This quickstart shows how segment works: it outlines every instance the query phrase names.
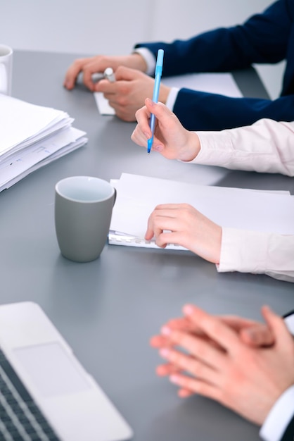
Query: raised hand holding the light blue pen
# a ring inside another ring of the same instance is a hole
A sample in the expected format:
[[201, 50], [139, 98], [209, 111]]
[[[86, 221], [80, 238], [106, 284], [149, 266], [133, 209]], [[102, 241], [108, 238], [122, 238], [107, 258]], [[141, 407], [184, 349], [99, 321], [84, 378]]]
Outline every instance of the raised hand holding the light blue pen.
[[198, 135], [186, 130], [177, 116], [162, 102], [155, 104], [151, 99], [145, 100], [145, 106], [136, 112], [138, 125], [132, 133], [132, 140], [142, 147], [147, 147], [147, 140], [152, 135], [149, 120], [153, 113], [156, 120], [152, 149], [159, 151], [167, 159], [192, 161], [200, 151]]

